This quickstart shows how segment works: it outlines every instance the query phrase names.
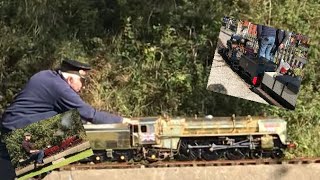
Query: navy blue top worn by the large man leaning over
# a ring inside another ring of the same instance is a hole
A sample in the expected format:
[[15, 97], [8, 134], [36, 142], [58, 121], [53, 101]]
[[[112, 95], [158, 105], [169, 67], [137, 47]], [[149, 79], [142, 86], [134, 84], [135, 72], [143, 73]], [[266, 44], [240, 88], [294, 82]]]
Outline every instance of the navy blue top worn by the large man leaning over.
[[94, 124], [122, 122], [122, 117], [99, 112], [85, 103], [57, 71], [44, 70], [30, 78], [6, 109], [2, 125], [10, 130], [23, 128], [71, 109], [77, 109], [81, 118]]

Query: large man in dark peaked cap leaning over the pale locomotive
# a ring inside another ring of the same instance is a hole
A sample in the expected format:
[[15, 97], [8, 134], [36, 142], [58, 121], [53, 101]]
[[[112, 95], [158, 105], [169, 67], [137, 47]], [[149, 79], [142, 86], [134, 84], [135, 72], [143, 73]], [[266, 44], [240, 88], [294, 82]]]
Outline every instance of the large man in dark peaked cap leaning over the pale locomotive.
[[[71, 109], [77, 109], [82, 119], [93, 124], [130, 123], [130, 119], [97, 111], [81, 99], [78, 93], [90, 69], [88, 64], [67, 59], [57, 70], [43, 70], [34, 74], [3, 113], [1, 134]], [[0, 175], [13, 172], [8, 157], [5, 144], [0, 142]]]

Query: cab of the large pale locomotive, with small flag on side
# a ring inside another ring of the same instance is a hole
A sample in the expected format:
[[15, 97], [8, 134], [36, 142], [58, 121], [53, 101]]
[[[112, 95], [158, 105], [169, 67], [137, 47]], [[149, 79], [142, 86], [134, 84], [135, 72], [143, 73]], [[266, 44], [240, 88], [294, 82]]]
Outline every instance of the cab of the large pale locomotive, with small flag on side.
[[157, 118], [133, 120], [130, 125], [132, 146], [153, 145], [156, 143], [155, 123]]

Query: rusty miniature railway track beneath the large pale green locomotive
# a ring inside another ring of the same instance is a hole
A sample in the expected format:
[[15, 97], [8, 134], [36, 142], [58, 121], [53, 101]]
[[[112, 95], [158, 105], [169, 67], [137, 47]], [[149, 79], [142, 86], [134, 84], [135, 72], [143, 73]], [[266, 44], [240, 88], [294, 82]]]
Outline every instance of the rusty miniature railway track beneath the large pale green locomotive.
[[87, 170], [87, 169], [137, 169], [137, 168], [164, 168], [164, 167], [205, 167], [205, 166], [239, 166], [239, 165], [276, 165], [276, 164], [313, 164], [320, 163], [320, 158], [297, 158], [292, 160], [249, 159], [249, 160], [216, 160], [216, 161], [167, 161], [150, 164], [129, 163], [98, 163], [98, 164], [71, 164], [61, 167], [60, 171]]

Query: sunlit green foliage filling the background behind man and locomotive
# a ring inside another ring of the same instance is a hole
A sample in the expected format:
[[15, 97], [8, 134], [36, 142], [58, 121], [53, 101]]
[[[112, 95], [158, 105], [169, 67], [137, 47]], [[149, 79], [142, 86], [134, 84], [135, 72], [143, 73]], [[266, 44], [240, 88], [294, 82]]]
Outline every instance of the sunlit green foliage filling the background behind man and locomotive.
[[[125, 116], [268, 112], [288, 120], [290, 137], [301, 142], [309, 136], [302, 129], [316, 132], [320, 119], [319, 9], [298, 0], [0, 1], [0, 109], [32, 74], [71, 57], [94, 66], [82, 96], [97, 109]], [[295, 111], [206, 90], [224, 15], [310, 36]], [[320, 155], [307, 143], [308, 155]]]

